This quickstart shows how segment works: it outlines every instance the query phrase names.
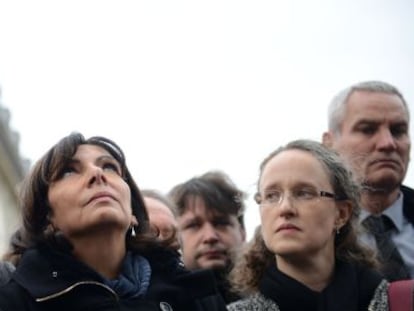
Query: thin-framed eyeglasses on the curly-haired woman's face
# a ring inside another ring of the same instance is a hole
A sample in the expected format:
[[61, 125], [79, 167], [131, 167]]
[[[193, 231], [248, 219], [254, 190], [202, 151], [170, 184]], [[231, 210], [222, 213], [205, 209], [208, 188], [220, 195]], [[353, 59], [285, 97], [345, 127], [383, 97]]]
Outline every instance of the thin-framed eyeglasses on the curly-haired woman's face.
[[[287, 197], [285, 192], [280, 190], [268, 190], [263, 193], [256, 193], [254, 199], [257, 204], [261, 206], [279, 206], [282, 204], [283, 199]], [[345, 200], [344, 197], [339, 197], [334, 193], [328, 191], [317, 191], [315, 189], [298, 189], [290, 192], [289, 198], [293, 204], [301, 205], [306, 202], [316, 200], [318, 198], [325, 197], [331, 198], [335, 201]]]

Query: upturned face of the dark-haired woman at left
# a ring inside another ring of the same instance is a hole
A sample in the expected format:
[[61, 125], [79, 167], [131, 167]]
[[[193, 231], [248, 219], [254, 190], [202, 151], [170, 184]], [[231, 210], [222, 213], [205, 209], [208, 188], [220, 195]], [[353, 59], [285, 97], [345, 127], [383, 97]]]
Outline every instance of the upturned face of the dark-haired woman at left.
[[125, 233], [136, 222], [121, 167], [99, 146], [77, 148], [68, 166], [50, 185], [48, 199], [51, 223], [72, 241], [100, 231]]

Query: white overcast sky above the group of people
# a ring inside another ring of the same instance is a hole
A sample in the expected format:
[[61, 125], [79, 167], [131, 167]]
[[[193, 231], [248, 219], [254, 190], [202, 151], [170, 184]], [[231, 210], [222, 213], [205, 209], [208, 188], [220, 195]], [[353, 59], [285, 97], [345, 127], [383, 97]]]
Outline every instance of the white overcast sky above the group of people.
[[0, 0], [0, 44], [24, 157], [80, 131], [119, 143], [141, 188], [223, 170], [249, 235], [260, 162], [320, 140], [336, 92], [379, 79], [414, 106], [412, 0]]

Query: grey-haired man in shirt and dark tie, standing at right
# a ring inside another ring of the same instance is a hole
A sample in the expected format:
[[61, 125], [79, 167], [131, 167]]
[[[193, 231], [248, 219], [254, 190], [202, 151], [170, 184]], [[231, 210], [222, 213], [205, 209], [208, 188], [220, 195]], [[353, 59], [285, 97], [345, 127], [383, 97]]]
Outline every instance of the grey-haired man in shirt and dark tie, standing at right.
[[323, 143], [353, 167], [363, 186], [361, 239], [378, 249], [390, 281], [414, 277], [414, 190], [402, 185], [410, 155], [409, 110], [386, 82], [352, 85], [332, 100]]

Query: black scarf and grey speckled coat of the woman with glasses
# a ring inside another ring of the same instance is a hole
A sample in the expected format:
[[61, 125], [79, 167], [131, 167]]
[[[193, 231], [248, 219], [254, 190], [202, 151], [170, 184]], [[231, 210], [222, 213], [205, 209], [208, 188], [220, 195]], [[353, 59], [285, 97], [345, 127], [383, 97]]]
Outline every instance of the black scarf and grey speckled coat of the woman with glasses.
[[348, 263], [337, 263], [335, 276], [316, 292], [269, 267], [259, 281], [259, 292], [230, 304], [230, 311], [361, 311], [388, 310], [388, 283], [376, 272]]

